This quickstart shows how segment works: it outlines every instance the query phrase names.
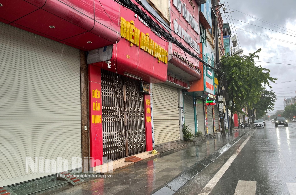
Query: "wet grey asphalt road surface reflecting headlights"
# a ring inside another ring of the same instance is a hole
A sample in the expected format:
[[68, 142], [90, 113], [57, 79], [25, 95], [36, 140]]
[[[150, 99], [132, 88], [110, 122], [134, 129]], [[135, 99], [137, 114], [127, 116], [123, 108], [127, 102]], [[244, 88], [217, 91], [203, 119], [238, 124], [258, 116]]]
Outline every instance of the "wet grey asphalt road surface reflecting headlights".
[[[199, 194], [242, 141], [219, 157], [220, 160], [206, 167], [176, 194]], [[256, 181], [258, 195], [290, 194], [286, 183], [296, 183], [296, 123], [289, 122], [288, 127], [275, 127], [266, 121], [266, 127], [255, 131], [210, 195], [234, 194], [239, 180]]]

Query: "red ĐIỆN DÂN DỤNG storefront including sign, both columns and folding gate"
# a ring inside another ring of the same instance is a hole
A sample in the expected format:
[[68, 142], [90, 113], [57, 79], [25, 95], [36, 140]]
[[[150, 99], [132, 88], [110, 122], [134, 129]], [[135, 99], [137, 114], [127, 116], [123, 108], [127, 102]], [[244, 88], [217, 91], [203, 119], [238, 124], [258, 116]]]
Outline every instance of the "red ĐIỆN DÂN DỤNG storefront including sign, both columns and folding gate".
[[[153, 18], [151, 15], [149, 17]], [[131, 89], [129, 85], [136, 83], [135, 86], [138, 86], [142, 81], [158, 83], [167, 79], [168, 42], [153, 32], [141, 17], [123, 7], [120, 7], [119, 29], [120, 40], [117, 44], [88, 52], [91, 167], [104, 163], [103, 156], [116, 160], [152, 150], [150, 95], [140, 93], [140, 87]], [[114, 91], [116, 93], [109, 97], [109, 93]], [[99, 93], [102, 99], [97, 98], [96, 94]], [[138, 98], [132, 98], [129, 93]], [[94, 107], [96, 103], [100, 103], [98, 110]], [[131, 104], [141, 105], [132, 107]], [[136, 118], [140, 124], [135, 121]], [[114, 137], [109, 131], [119, 136]], [[132, 138], [130, 132], [144, 136], [144, 139]], [[143, 141], [145, 143], [141, 143]], [[136, 150], [136, 146], [142, 150]]]

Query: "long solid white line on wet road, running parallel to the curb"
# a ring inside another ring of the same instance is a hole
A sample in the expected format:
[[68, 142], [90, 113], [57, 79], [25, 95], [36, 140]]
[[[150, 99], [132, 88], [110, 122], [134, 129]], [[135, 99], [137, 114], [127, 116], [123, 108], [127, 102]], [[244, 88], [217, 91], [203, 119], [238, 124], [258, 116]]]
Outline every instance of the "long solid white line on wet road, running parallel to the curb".
[[234, 161], [234, 159], [237, 157], [239, 152], [242, 150], [244, 145], [246, 145], [246, 143], [249, 141], [249, 139], [251, 138], [251, 136], [254, 134], [255, 131], [256, 129], [251, 133], [251, 135], [249, 135], [249, 137], [246, 140], [244, 140], [244, 143], [242, 143], [242, 145], [239, 146], [237, 151], [226, 161], [226, 163], [221, 167], [221, 169], [216, 173], [216, 175], [214, 175], [214, 177], [209, 181], [209, 183], [207, 183], [207, 185], [202, 189], [202, 191], [198, 195], [210, 194], [210, 192], [213, 190], [215, 185], [224, 175], [226, 170], [229, 168], [230, 164]]

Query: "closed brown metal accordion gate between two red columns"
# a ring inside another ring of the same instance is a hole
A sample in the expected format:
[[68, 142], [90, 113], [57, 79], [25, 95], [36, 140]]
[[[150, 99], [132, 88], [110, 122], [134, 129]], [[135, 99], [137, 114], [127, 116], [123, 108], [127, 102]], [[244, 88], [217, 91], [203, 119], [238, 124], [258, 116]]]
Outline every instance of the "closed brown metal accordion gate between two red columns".
[[146, 151], [140, 82], [102, 69], [104, 163]]

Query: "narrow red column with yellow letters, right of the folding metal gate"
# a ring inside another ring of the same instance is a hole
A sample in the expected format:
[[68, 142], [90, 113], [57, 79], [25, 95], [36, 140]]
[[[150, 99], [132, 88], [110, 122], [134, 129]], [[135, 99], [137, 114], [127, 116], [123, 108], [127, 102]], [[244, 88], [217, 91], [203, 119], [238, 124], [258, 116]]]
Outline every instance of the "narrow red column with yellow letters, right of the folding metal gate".
[[144, 95], [144, 117], [146, 131], [146, 151], [151, 151], [152, 147], [152, 126], [151, 126], [151, 106], [150, 95]]

